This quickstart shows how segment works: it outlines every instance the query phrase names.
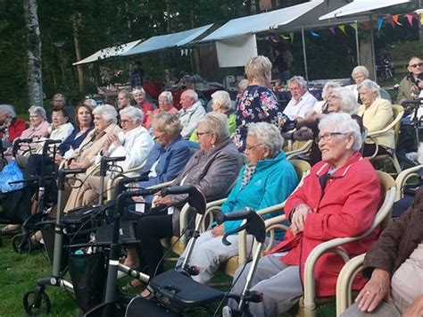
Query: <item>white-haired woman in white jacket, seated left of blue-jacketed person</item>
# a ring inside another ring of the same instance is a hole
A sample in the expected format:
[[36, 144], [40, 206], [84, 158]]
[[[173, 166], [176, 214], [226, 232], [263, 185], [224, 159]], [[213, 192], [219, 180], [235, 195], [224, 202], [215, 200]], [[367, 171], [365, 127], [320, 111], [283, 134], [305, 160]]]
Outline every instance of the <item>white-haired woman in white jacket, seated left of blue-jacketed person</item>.
[[[97, 154], [95, 164], [100, 164], [102, 156], [125, 156], [125, 161], [116, 163], [122, 171], [129, 171], [145, 163], [154, 142], [148, 131], [142, 126], [142, 121], [143, 113], [140, 109], [129, 106], [120, 110], [122, 130], [107, 138], [105, 144], [108, 145], [108, 148]], [[129, 173], [127, 176], [135, 175]], [[107, 184], [111, 177], [112, 173], [108, 173], [104, 183]], [[100, 177], [88, 176], [81, 188], [72, 189], [64, 211], [68, 212], [82, 205], [93, 204], [98, 201], [100, 194]]]

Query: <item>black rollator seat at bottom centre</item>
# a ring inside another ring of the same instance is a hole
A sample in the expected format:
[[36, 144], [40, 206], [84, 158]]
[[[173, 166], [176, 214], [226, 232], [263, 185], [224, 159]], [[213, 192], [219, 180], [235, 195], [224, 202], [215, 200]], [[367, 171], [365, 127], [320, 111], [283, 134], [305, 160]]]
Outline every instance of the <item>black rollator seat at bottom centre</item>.
[[176, 270], [166, 271], [150, 279], [149, 285], [162, 304], [170, 303], [180, 310], [211, 304], [225, 296], [224, 292], [200, 284]]

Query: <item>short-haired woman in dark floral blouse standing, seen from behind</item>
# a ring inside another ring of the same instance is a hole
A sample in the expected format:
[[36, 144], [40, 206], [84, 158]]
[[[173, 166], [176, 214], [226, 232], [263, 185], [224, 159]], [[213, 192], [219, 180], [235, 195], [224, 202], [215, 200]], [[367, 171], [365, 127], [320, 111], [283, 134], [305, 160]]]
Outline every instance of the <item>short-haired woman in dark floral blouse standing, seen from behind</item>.
[[266, 56], [256, 56], [245, 64], [248, 86], [236, 102], [236, 132], [234, 142], [239, 152], [245, 151], [245, 140], [250, 123], [268, 122], [279, 125], [282, 113], [278, 98], [270, 90], [271, 63]]

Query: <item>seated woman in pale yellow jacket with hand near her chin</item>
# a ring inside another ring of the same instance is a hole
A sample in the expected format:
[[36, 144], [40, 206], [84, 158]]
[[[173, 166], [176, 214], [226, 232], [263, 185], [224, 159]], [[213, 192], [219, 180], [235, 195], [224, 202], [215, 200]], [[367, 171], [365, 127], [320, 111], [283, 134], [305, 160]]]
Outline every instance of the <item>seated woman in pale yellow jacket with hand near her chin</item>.
[[[379, 86], [376, 82], [365, 79], [358, 86], [361, 106], [358, 114], [361, 116], [363, 125], [368, 133], [385, 129], [394, 121], [394, 112], [392, 104], [379, 95]], [[376, 137], [378, 150], [377, 155], [387, 154], [395, 148], [394, 129], [388, 131], [385, 135]], [[376, 152], [376, 145], [371, 140], [366, 140], [363, 156], [371, 156]]]

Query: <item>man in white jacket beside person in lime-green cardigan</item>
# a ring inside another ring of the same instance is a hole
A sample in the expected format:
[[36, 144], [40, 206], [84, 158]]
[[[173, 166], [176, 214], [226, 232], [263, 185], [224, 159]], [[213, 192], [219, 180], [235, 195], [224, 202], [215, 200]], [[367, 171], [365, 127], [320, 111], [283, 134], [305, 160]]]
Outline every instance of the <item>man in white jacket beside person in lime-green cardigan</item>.
[[178, 117], [183, 127], [180, 134], [182, 138], [189, 138], [198, 121], [203, 118], [205, 110], [201, 100], [198, 100], [197, 93], [192, 89], [187, 89], [182, 93], [180, 105], [182, 109], [179, 110]]

